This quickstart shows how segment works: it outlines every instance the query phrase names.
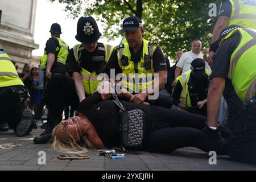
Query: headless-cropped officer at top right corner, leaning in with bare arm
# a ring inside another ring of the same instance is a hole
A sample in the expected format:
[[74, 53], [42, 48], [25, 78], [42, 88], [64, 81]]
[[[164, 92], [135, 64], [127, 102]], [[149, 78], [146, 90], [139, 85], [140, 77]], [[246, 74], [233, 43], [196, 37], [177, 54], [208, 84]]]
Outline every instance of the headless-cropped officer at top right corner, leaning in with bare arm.
[[[239, 25], [244, 28], [256, 29], [256, 2], [253, 0], [223, 0], [218, 15], [217, 23], [213, 30], [212, 43], [216, 42], [220, 32], [231, 25]], [[215, 49], [212, 44], [209, 53], [209, 63], [212, 64]]]

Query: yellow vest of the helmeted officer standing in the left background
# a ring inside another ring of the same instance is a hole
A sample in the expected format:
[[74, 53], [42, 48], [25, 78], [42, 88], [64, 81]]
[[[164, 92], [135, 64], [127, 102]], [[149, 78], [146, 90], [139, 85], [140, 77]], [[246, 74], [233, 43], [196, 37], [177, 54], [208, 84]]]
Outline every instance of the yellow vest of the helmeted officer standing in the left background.
[[[68, 57], [68, 45], [60, 38], [55, 37], [58, 40], [59, 46], [56, 47], [56, 52], [58, 52], [56, 60], [58, 63], [66, 65], [67, 57]], [[48, 61], [48, 55], [46, 54], [46, 50], [44, 50], [44, 55], [41, 58], [41, 69], [45, 69]]]

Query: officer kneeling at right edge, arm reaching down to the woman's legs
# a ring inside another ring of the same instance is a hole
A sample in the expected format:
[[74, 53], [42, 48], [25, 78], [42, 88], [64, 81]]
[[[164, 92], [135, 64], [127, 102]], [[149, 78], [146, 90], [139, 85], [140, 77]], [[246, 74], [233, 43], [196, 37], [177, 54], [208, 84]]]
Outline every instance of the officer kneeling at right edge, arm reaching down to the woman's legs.
[[[218, 109], [224, 89], [233, 88], [237, 99], [233, 105], [244, 108], [233, 123], [232, 136], [226, 146], [228, 155], [234, 160], [256, 164], [256, 30], [229, 26], [217, 40], [217, 48], [212, 69], [212, 81], [208, 92], [208, 127], [207, 131], [222, 142], [218, 134]], [[227, 93], [233, 94], [233, 93]]]

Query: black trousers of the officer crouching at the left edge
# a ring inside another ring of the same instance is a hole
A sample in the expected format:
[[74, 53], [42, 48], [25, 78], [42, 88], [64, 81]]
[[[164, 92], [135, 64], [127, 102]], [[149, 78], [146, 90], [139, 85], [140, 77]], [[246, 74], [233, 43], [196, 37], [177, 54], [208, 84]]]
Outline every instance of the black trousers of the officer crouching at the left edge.
[[7, 122], [10, 129], [16, 129], [22, 120], [24, 102], [20, 101], [18, 91], [24, 89], [22, 85], [0, 88], [0, 122]]

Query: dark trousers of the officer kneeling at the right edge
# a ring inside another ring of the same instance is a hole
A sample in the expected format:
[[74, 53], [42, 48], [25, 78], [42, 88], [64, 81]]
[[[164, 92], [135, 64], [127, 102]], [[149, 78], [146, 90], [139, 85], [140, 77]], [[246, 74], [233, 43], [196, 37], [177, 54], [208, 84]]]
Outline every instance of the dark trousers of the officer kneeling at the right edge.
[[237, 118], [228, 140], [228, 154], [233, 160], [256, 164], [256, 102]]

